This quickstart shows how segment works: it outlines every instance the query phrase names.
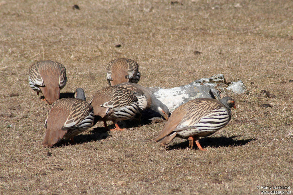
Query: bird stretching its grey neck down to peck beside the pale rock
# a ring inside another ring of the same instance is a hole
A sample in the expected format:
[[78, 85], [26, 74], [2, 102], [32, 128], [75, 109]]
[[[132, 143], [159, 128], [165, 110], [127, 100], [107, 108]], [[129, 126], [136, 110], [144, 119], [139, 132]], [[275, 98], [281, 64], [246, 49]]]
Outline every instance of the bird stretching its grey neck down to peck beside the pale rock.
[[138, 106], [141, 111], [150, 108], [151, 110], [160, 113], [166, 120], [169, 119], [169, 108], [160, 100], [156, 99], [146, 87], [130, 82], [119, 83], [115, 86], [129, 89], [137, 97]]

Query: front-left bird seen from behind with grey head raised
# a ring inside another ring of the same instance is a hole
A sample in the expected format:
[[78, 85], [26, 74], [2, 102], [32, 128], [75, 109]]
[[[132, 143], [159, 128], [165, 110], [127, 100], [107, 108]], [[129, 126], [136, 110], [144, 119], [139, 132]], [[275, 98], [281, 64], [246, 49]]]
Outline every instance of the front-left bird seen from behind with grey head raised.
[[77, 88], [74, 97], [58, 99], [50, 106], [45, 118], [44, 146], [69, 139], [74, 143], [74, 136], [93, 126], [93, 106], [86, 102], [84, 90]]

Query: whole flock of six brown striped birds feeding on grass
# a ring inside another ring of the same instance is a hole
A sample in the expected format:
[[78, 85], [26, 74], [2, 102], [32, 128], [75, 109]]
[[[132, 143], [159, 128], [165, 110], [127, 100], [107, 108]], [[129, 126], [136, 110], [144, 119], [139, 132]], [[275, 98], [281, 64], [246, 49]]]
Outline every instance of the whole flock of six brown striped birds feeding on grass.
[[[38, 61], [29, 68], [29, 85], [52, 104], [45, 118], [44, 146], [56, 146], [103, 121], [108, 131], [121, 131], [117, 122], [137, 119], [142, 111], [157, 111], [167, 123], [154, 141], [162, 146], [169, 144], [175, 137], [189, 140], [198, 149], [205, 151], [199, 143], [200, 137], [213, 134], [225, 127], [231, 120], [231, 108], [236, 108], [231, 97], [216, 99], [197, 98], [176, 108], [170, 115], [168, 107], [137, 84], [140, 80], [137, 62], [118, 58], [106, 65], [106, 78], [110, 86], [98, 90], [88, 103], [82, 88], [77, 88], [74, 98], [59, 99], [60, 90], [67, 82], [64, 65], [54, 61]], [[170, 118], [169, 118], [170, 115]], [[113, 121], [115, 128], [109, 129], [107, 121]]]

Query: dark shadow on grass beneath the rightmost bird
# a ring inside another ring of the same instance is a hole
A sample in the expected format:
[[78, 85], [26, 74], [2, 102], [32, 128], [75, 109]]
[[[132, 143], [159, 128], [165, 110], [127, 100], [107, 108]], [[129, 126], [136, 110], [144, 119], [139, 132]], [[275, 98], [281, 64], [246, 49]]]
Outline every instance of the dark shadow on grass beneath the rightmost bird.
[[[230, 136], [230, 137], [205, 137], [200, 139], [200, 145], [202, 148], [214, 147], [214, 148], [220, 148], [220, 147], [236, 147], [236, 146], [243, 146], [248, 144], [251, 141], [257, 140], [256, 138], [252, 139], [241, 139], [241, 140], [234, 140], [233, 138], [238, 137], [237, 135]], [[187, 149], [188, 148], [189, 141], [183, 141], [178, 144], [174, 144], [171, 146], [167, 146], [166, 150], [176, 150], [176, 149]], [[193, 146], [194, 149], [197, 149], [196, 144]]]

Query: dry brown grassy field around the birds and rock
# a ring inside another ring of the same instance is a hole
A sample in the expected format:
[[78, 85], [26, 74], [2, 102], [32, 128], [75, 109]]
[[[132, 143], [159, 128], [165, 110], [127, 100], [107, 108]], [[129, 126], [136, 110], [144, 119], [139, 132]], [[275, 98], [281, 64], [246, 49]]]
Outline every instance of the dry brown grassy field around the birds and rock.
[[[0, 193], [292, 191], [292, 13], [292, 0], [0, 0]], [[137, 61], [146, 87], [224, 74], [248, 92], [222, 94], [237, 109], [225, 128], [200, 139], [205, 152], [179, 138], [154, 143], [165, 121], [122, 132], [106, 132], [99, 122], [76, 136], [76, 145], [42, 146], [49, 105], [30, 89], [29, 66], [62, 63], [68, 80], [61, 92], [82, 87], [89, 101], [107, 86], [105, 65], [120, 57]]]

